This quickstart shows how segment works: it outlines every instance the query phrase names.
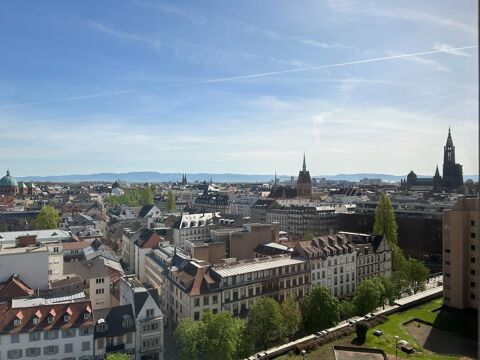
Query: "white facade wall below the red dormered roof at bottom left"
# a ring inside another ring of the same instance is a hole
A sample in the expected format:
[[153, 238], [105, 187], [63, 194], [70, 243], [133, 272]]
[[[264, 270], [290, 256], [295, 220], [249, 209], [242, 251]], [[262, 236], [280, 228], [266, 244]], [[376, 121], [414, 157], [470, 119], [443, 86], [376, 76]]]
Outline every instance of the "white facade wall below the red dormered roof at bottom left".
[[[48, 339], [47, 331], [40, 332], [40, 340], [31, 341], [28, 333], [18, 334], [18, 342], [12, 343], [11, 335], [0, 336], [0, 359], [9, 359], [8, 354], [11, 350], [21, 350], [22, 355], [19, 359], [28, 359], [27, 349], [39, 348], [40, 355], [37, 359], [65, 359], [73, 357], [75, 359], [91, 359], [93, 356], [93, 327], [86, 328], [87, 335], [83, 334], [83, 329], [74, 328], [73, 337], [63, 337], [61, 330], [54, 330], [56, 332], [55, 339]], [[85, 343], [85, 344], [84, 344]], [[72, 345], [72, 352], [65, 352], [65, 346], [67, 344]], [[46, 352], [47, 347], [54, 346], [57, 352], [55, 354], [49, 354]], [[83, 350], [85, 349], [85, 350]]]

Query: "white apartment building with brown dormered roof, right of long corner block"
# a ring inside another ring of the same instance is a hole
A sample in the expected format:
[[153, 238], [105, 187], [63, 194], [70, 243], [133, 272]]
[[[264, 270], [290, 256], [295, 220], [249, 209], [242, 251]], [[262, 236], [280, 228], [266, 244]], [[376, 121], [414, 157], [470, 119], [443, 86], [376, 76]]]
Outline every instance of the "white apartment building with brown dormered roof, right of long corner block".
[[322, 285], [338, 298], [353, 295], [357, 252], [345, 235], [333, 234], [299, 241], [294, 250], [309, 262], [312, 287]]

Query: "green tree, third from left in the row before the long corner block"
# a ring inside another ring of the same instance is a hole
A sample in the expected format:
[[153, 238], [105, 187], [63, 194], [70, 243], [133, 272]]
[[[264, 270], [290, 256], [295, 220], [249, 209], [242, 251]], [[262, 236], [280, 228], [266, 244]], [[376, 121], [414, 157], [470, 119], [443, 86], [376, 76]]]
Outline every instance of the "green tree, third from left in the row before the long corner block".
[[250, 334], [258, 345], [268, 344], [285, 335], [285, 324], [280, 305], [269, 297], [262, 297], [252, 306], [247, 317]]

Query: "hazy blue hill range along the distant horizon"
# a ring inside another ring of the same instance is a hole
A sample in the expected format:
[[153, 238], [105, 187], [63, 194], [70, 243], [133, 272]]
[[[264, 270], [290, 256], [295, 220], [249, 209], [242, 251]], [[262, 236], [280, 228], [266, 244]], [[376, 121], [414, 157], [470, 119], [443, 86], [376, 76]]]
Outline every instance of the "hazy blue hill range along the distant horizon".
[[[154, 171], [142, 171], [142, 172], [127, 172], [127, 173], [98, 173], [98, 174], [85, 174], [85, 175], [52, 175], [52, 176], [24, 176], [18, 177], [18, 180], [22, 181], [34, 181], [34, 182], [114, 182], [120, 180], [129, 183], [155, 183], [155, 182], [175, 182], [182, 179], [182, 173], [159, 173]], [[400, 179], [405, 179], [406, 176], [397, 176], [389, 174], [338, 174], [338, 175], [315, 175], [315, 178], [325, 178], [326, 180], [344, 180], [351, 182], [358, 182], [361, 179], [382, 179], [388, 182], [399, 182]], [[419, 177], [430, 177], [419, 175]], [[248, 175], [248, 174], [213, 174], [213, 173], [196, 173], [188, 174], [187, 180], [189, 182], [195, 181], [210, 181], [213, 182], [249, 182], [249, 183], [265, 183], [273, 180], [274, 175]], [[288, 175], [278, 175], [281, 181], [289, 180]], [[478, 181], [478, 175], [465, 175], [464, 180], [473, 179]]]

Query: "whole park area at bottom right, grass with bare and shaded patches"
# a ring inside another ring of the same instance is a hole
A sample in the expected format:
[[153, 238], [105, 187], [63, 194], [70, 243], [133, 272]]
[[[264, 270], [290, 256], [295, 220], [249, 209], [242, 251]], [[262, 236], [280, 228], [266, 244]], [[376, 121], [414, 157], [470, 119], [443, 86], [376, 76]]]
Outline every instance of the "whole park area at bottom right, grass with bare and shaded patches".
[[[477, 315], [475, 311], [442, 309], [442, 299], [435, 299], [421, 306], [388, 316], [383, 324], [368, 329], [361, 347], [385, 351], [389, 359], [395, 358], [395, 336], [404, 340], [415, 352], [406, 354], [398, 348], [399, 359], [475, 359], [477, 339]], [[374, 330], [383, 335], [375, 336]], [[334, 346], [355, 345], [355, 333], [330, 343], [318, 346], [305, 354], [305, 360], [334, 360]], [[393, 355], [393, 356], [392, 356]], [[293, 352], [279, 359], [302, 359]]]

